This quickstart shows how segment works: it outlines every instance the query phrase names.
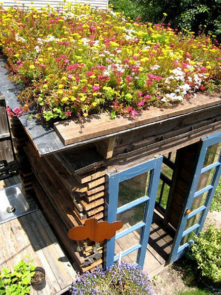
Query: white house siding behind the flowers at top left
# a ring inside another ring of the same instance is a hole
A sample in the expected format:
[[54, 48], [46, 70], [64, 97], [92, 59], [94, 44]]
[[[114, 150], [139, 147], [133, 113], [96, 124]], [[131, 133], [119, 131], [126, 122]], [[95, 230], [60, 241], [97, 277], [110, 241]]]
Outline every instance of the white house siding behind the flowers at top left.
[[[32, 2], [32, 3], [31, 3]], [[106, 9], [108, 7], [108, 0], [67, 0], [67, 2], [81, 2], [81, 3], [89, 3], [94, 8], [102, 8]], [[61, 3], [63, 3], [62, 0], [23, 0], [23, 1], [3, 1], [3, 7], [7, 8], [14, 5], [25, 5], [25, 6], [34, 6], [38, 9], [41, 7], [47, 7], [47, 4], [50, 4], [54, 7], [59, 7]]]

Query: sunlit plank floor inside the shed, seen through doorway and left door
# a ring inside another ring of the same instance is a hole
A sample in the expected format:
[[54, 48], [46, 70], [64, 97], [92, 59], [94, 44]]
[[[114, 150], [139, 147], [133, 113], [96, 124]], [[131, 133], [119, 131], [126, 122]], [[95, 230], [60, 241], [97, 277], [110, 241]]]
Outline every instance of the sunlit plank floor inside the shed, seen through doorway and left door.
[[[147, 271], [150, 278], [164, 269], [172, 248], [172, 232], [168, 233], [168, 230], [164, 229], [162, 221], [162, 218], [155, 212], [143, 266], [143, 270]], [[126, 226], [124, 226], [124, 229], [126, 229]], [[119, 254], [119, 252], [138, 244], [138, 242], [139, 234], [137, 231], [124, 236], [115, 242], [115, 254]], [[136, 261], [136, 256], [137, 251], [132, 252], [122, 260], [133, 263]]]

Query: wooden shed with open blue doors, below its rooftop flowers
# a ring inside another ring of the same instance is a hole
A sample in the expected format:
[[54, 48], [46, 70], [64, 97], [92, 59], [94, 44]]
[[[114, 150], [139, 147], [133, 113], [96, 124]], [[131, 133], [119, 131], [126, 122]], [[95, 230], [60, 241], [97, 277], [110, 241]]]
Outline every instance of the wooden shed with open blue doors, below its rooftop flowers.
[[[1, 60], [0, 91], [11, 108], [16, 88]], [[84, 272], [119, 255], [155, 275], [199, 233], [221, 175], [221, 97], [198, 95], [134, 118], [102, 114], [37, 125], [13, 118], [22, 184], [42, 206], [72, 262]], [[103, 243], [68, 238], [94, 217], [124, 226]]]

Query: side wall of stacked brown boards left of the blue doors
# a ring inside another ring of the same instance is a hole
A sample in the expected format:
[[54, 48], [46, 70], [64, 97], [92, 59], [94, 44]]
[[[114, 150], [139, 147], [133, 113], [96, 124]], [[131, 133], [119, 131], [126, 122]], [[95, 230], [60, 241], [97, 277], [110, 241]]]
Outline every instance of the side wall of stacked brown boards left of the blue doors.
[[[104, 217], [106, 168], [102, 157], [92, 147], [39, 157], [29, 140], [23, 149], [33, 172], [35, 194], [72, 262], [82, 272], [101, 264], [102, 245], [95, 247], [88, 240], [77, 245], [67, 232], [88, 218]], [[95, 253], [99, 254], [96, 260], [90, 260]]]

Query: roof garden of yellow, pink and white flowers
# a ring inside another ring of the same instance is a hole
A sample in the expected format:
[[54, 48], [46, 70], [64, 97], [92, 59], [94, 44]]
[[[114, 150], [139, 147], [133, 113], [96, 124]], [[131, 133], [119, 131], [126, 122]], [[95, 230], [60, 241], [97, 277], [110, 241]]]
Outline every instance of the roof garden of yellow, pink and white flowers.
[[23, 85], [14, 113], [34, 106], [36, 118], [46, 121], [102, 111], [135, 116], [218, 89], [215, 36], [175, 31], [82, 4], [1, 7], [2, 51], [11, 78]]

